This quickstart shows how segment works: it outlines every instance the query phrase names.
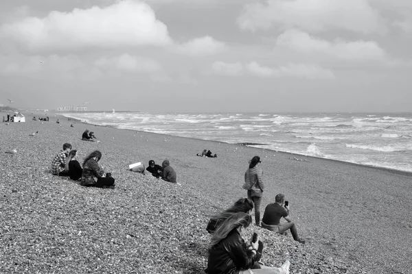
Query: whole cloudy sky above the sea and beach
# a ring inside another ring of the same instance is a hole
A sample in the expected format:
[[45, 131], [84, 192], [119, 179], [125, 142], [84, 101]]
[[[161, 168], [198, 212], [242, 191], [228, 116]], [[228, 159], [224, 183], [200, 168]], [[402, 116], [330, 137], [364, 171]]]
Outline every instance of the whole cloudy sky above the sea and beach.
[[2, 0], [0, 104], [412, 112], [411, 49], [411, 0]]

